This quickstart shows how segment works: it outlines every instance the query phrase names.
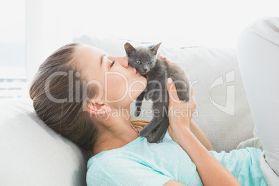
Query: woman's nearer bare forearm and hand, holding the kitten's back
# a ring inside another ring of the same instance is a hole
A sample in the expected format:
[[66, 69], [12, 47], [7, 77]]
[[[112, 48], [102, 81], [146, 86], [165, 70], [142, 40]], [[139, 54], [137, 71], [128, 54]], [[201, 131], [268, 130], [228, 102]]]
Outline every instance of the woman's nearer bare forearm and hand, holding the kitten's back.
[[[173, 107], [172, 109], [176, 110], [176, 116], [169, 113], [169, 135], [196, 164], [196, 170], [203, 185], [240, 185], [235, 176], [205, 149], [205, 146], [190, 130], [192, 115], [196, 108], [194, 87], [192, 87], [189, 102], [179, 100], [174, 82], [167, 83], [167, 90], [169, 92], [169, 108]], [[179, 111], [181, 116], [178, 115]], [[185, 112], [187, 113], [186, 117]]]

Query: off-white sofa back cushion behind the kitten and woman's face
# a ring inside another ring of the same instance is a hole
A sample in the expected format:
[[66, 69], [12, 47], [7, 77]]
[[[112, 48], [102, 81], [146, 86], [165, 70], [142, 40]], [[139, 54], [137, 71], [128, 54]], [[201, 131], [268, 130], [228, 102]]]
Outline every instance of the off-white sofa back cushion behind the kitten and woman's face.
[[[126, 56], [124, 44], [137, 46], [140, 42], [115, 38], [90, 37], [74, 38], [98, 47], [112, 56]], [[144, 43], [147, 44], [148, 43]], [[230, 151], [239, 142], [253, 137], [253, 118], [248, 105], [242, 77], [239, 73], [235, 49], [208, 47], [185, 47], [171, 49], [161, 44], [164, 56], [185, 69], [192, 80], [196, 95], [196, 112], [193, 119], [205, 132], [215, 151]], [[150, 110], [151, 103], [145, 101], [143, 110]], [[133, 114], [134, 103], [131, 105]], [[142, 112], [136, 119], [150, 121], [150, 112]]]

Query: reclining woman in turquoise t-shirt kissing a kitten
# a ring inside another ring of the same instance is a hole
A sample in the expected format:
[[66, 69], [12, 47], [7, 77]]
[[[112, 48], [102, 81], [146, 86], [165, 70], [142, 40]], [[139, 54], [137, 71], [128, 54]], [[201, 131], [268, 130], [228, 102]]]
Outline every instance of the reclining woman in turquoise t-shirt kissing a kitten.
[[49, 127], [92, 151], [87, 185], [266, 185], [262, 151], [208, 151], [210, 142], [192, 120], [194, 88], [185, 103], [174, 82], [166, 83], [169, 107], [180, 112], [169, 113], [169, 135], [159, 144], [139, 137], [136, 128], [143, 121], [130, 121], [130, 103], [146, 87], [146, 78], [128, 66], [127, 57], [68, 44], [40, 66], [30, 94]]

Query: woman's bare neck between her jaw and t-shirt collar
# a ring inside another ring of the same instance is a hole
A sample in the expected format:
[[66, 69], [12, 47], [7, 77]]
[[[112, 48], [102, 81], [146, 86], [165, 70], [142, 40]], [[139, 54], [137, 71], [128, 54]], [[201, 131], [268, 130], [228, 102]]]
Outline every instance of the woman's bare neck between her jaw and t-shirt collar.
[[99, 128], [99, 137], [93, 147], [93, 155], [102, 151], [118, 149], [140, 136], [137, 130], [130, 124], [130, 115], [128, 117], [109, 116], [103, 122], [105, 124], [99, 124], [101, 128]]

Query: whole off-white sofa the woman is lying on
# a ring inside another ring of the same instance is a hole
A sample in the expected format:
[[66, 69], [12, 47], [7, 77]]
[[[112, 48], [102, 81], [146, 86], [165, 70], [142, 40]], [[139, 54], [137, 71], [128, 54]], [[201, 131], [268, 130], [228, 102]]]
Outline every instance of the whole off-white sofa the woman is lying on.
[[[74, 42], [122, 56], [127, 41], [83, 35]], [[253, 118], [235, 49], [169, 49], [162, 44], [160, 52], [178, 62], [195, 82], [193, 119], [216, 151], [236, 149], [240, 142], [253, 137]], [[149, 102], [143, 105], [150, 106]], [[1, 103], [0, 113], [0, 185], [86, 185], [91, 153], [45, 126], [35, 115], [31, 100]], [[150, 120], [151, 116], [141, 115], [140, 119]]]

